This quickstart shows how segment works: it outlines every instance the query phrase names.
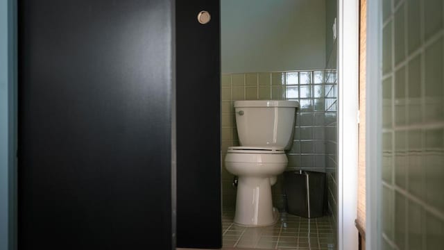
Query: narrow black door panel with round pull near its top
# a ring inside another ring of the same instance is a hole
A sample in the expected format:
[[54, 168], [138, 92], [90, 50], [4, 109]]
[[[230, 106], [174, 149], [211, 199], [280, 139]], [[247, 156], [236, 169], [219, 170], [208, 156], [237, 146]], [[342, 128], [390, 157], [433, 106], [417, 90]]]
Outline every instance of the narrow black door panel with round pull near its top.
[[219, 0], [176, 1], [178, 247], [222, 246], [219, 12]]

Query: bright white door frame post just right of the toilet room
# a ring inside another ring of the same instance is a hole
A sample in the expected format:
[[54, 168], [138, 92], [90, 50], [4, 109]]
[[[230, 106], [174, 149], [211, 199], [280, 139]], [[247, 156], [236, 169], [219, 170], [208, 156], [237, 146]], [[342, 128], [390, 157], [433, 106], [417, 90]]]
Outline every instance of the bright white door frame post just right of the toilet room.
[[359, 0], [338, 1], [338, 249], [358, 249]]

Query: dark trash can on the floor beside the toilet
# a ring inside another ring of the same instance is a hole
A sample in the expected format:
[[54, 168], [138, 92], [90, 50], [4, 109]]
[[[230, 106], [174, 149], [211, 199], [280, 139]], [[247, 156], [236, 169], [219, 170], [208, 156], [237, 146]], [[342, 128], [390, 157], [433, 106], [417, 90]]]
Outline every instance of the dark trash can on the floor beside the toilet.
[[325, 173], [284, 172], [287, 212], [307, 218], [322, 217], [325, 206]]

